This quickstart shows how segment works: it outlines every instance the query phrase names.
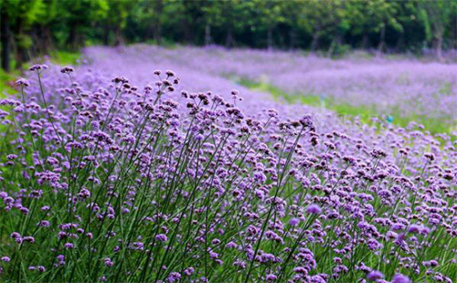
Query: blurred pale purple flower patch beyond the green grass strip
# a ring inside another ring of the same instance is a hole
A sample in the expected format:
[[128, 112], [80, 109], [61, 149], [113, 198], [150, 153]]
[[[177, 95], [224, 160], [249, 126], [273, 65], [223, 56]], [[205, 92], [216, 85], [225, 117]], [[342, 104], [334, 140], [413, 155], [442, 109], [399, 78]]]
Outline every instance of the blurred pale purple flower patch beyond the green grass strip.
[[[297, 96], [315, 95], [323, 100], [374, 107], [383, 114], [398, 112], [403, 117], [425, 115], [448, 122], [457, 121], [455, 63], [407, 58], [333, 60], [303, 56], [296, 51], [227, 50], [221, 47], [166, 49], [133, 46], [120, 50], [89, 47], [86, 53], [96, 62], [102, 61], [104, 66], [107, 65], [105, 58], [116, 58], [110, 68], [115, 68], [120, 61], [143, 65], [141, 62], [147, 59], [164, 66], [185, 66], [193, 70], [190, 74], [265, 81]], [[174, 69], [178, 71], [177, 68]], [[187, 75], [187, 72], [179, 73]], [[201, 86], [201, 83], [197, 85]]]

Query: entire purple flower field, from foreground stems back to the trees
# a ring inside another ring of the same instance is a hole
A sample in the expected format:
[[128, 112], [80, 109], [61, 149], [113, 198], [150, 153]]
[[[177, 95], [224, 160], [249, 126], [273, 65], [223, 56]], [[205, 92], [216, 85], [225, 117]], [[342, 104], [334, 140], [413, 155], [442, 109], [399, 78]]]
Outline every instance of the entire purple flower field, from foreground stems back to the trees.
[[457, 119], [455, 65], [218, 47], [84, 57], [31, 67], [0, 100], [0, 281], [456, 281], [455, 137], [228, 79]]

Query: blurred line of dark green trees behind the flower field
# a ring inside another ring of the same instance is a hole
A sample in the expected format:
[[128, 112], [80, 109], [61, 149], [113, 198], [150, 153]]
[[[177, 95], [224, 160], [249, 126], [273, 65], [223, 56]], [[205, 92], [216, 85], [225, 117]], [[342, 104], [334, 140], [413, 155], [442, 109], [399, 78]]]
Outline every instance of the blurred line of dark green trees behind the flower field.
[[1, 0], [2, 68], [86, 44], [303, 48], [335, 55], [457, 47], [457, 0]]

